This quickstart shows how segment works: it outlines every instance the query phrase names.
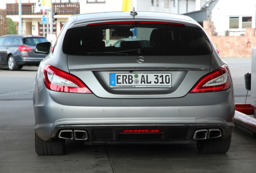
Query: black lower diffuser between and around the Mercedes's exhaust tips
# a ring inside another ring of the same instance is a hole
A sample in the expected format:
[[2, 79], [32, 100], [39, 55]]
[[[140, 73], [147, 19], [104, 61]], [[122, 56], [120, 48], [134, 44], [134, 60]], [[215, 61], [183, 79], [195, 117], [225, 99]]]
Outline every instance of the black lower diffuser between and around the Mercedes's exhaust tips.
[[[211, 120], [210, 120], [211, 121]], [[131, 143], [176, 143], [177, 141], [192, 141], [198, 129], [219, 129], [223, 139], [231, 135], [233, 123], [221, 121], [207, 124], [101, 124], [101, 125], [61, 125], [57, 126], [52, 135], [60, 137], [60, 131], [85, 131], [85, 143], [91, 144], [131, 144]], [[158, 130], [159, 133], [124, 133], [123, 131]], [[76, 139], [74, 137], [74, 139]]]

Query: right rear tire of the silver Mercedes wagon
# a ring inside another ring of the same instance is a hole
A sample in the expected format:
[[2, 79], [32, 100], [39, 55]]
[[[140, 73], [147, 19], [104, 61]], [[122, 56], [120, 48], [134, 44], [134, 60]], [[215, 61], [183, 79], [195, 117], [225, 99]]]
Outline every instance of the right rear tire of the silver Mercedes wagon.
[[198, 140], [196, 145], [200, 153], [227, 153], [231, 143], [231, 135], [226, 139]]

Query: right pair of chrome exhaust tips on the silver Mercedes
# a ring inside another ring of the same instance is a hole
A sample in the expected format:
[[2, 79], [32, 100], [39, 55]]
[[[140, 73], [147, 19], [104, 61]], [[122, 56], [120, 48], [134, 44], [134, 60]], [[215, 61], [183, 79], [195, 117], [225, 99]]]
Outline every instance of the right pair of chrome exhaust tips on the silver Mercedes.
[[221, 137], [220, 129], [198, 129], [194, 132], [194, 140], [213, 139]]

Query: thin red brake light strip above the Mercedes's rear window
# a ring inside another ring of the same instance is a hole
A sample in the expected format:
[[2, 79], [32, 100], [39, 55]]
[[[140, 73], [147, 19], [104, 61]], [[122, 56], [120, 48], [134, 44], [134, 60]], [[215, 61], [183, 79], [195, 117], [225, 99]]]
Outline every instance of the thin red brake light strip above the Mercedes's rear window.
[[168, 25], [180, 25], [184, 26], [184, 24], [173, 23], [173, 22], [154, 22], [154, 21], [123, 21], [123, 22], [100, 22], [100, 23], [92, 23], [88, 25], [111, 25], [111, 24], [168, 24]]

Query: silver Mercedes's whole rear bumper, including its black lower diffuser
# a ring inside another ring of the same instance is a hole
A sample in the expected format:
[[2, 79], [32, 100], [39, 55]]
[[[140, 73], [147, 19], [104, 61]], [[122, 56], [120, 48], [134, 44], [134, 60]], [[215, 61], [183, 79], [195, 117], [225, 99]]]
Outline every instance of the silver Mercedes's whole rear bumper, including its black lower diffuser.
[[[127, 102], [116, 103], [117, 99], [97, 98], [103, 101], [94, 103], [96, 96], [93, 94], [85, 94], [88, 99], [80, 100], [80, 104], [84, 106], [77, 106], [77, 96], [81, 94], [71, 93], [63, 96], [62, 99], [66, 98], [70, 103], [65, 105], [57, 103], [52, 93], [65, 95], [65, 93], [47, 91], [47, 89], [34, 92], [35, 132], [45, 141], [58, 137], [60, 131], [64, 129], [85, 130], [88, 134], [86, 141], [89, 144], [190, 141], [196, 129], [220, 129], [224, 139], [234, 129], [235, 105], [233, 93], [229, 91], [216, 92], [215, 95], [228, 93], [229, 96], [224, 100], [220, 99], [220, 103], [215, 105], [211, 100], [210, 105], [205, 104], [206, 101], [204, 105], [199, 105], [199, 101], [197, 102], [197, 98], [194, 97], [196, 95], [192, 95], [194, 103], [188, 103], [186, 101], [188, 97], [174, 99], [172, 104], [167, 102], [171, 99], [159, 99], [157, 103], [156, 99], [134, 99], [129, 102], [129, 106], [124, 105]], [[203, 93], [203, 95], [207, 97], [209, 93]], [[112, 104], [115, 106], [109, 106]], [[122, 130], [148, 129], [161, 130], [163, 133], [120, 133]]]

